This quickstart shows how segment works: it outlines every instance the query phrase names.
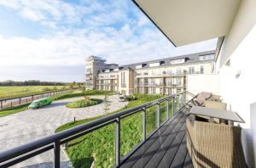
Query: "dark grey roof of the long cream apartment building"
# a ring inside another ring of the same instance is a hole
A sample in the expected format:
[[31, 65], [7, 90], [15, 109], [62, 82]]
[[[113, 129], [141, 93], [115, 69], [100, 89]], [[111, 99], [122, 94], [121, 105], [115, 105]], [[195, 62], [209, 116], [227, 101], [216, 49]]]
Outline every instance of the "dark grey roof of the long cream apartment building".
[[[199, 60], [200, 56], [207, 55], [207, 54], [215, 54], [215, 50], [212, 51], [207, 51], [207, 52], [201, 52], [201, 53], [191, 53], [191, 54], [186, 54], [186, 55], [181, 55], [181, 56], [176, 56], [176, 57], [171, 57], [171, 58], [166, 58], [166, 59], [155, 59], [155, 60], [150, 60], [150, 61], [144, 61], [136, 64], [125, 64], [125, 65], [119, 65], [119, 70], [136, 70], [137, 65], [143, 65], [142, 69], [144, 68], [150, 68], [149, 64], [151, 63], [160, 63], [160, 66], [167, 66], [167, 65], [173, 65], [171, 64], [172, 60], [177, 60], [177, 59], [185, 59], [185, 62], [182, 64], [188, 64], [188, 63], [196, 63], [196, 62], [203, 62]], [[213, 59], [212, 59], [213, 61]], [[104, 72], [104, 69], [101, 70], [100, 72]], [[110, 71], [113, 71], [113, 69], [110, 69]]]

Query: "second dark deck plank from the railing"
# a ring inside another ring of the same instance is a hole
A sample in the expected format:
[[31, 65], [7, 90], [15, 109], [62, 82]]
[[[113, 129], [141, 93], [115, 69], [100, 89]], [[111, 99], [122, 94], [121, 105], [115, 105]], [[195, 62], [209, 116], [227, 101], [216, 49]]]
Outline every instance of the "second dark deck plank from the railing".
[[172, 132], [172, 130], [175, 128], [175, 126], [180, 125], [180, 120], [183, 119], [184, 115], [181, 115], [180, 117], [177, 117], [177, 119], [172, 123], [172, 126], [169, 126], [165, 133], [163, 133], [163, 136], [160, 136], [157, 141], [155, 141], [150, 148], [143, 154], [143, 156], [137, 160], [137, 162], [132, 167], [144, 167], [148, 164], [148, 160], [151, 159], [152, 156], [156, 153], [156, 151], [160, 148], [160, 145], [164, 143], [166, 140], [167, 135]]

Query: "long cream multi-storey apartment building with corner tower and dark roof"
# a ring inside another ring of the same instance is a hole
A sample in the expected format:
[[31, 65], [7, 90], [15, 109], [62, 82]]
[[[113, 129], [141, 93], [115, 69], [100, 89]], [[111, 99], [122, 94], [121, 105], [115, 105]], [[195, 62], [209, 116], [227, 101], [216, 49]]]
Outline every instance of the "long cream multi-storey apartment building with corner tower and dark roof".
[[193, 53], [137, 64], [106, 64], [106, 59], [86, 59], [86, 89], [132, 93], [173, 94], [187, 88], [187, 76], [212, 74], [215, 51]]

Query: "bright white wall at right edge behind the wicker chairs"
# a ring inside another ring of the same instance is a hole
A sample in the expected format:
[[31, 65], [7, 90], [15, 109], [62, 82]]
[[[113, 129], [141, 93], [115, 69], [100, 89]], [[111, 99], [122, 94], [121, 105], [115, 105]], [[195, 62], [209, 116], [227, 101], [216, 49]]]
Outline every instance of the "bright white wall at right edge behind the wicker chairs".
[[[230, 59], [230, 65], [225, 65]], [[256, 1], [243, 0], [216, 64], [219, 92], [246, 121], [242, 143], [248, 167], [256, 167]]]

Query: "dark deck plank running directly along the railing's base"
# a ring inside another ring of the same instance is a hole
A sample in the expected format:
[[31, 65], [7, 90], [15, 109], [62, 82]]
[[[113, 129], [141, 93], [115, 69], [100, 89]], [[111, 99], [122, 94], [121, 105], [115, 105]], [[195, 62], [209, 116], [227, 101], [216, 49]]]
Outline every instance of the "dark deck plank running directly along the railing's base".
[[171, 120], [169, 120], [164, 126], [161, 126], [159, 131], [155, 132], [154, 135], [152, 135], [152, 137], [150, 137], [145, 143], [143, 143], [143, 146], [141, 148], [138, 148], [134, 154], [131, 154], [131, 156], [127, 160], [125, 160], [125, 162], [122, 165], [120, 165], [120, 167], [128, 168], [134, 165], [137, 162], [137, 160], [139, 160], [143, 156], [143, 154], [148, 150], [148, 148], [150, 148], [151, 145], [155, 141], [157, 141], [158, 137], [160, 137], [160, 135], [166, 131], [166, 128], [172, 126], [172, 123], [177, 119], [177, 117], [181, 115], [183, 114], [177, 113], [173, 115]]

